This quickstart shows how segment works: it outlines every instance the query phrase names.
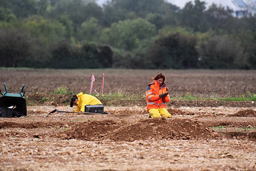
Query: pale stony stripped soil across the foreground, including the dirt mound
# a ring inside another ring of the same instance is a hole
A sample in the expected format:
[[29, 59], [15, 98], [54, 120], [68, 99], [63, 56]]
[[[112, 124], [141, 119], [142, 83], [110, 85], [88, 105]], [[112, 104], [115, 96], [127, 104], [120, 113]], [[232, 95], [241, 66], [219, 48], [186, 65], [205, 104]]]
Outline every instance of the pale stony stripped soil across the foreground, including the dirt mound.
[[168, 107], [172, 119], [148, 118], [145, 107], [53, 109], [0, 118], [1, 171], [256, 170], [253, 107]]

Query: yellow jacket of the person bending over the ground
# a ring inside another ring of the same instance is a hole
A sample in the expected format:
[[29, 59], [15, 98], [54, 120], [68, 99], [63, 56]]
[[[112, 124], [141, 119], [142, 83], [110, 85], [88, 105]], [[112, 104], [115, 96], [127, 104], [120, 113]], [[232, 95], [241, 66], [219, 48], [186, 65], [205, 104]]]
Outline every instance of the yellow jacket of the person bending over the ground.
[[89, 94], [83, 94], [83, 92], [76, 95], [78, 97], [78, 106], [76, 106], [75, 112], [84, 112], [86, 105], [98, 105], [102, 104], [99, 99]]

